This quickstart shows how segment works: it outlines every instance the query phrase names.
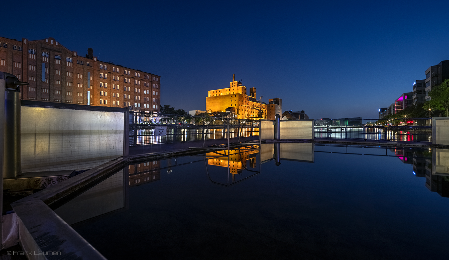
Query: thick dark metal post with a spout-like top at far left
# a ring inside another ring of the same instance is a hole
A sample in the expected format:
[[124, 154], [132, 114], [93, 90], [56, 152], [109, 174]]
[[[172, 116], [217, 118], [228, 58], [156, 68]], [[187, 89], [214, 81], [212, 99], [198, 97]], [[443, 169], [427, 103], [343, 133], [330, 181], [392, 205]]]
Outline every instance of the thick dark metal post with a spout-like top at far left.
[[20, 86], [30, 85], [5, 73], [3, 178], [21, 174], [20, 166]]

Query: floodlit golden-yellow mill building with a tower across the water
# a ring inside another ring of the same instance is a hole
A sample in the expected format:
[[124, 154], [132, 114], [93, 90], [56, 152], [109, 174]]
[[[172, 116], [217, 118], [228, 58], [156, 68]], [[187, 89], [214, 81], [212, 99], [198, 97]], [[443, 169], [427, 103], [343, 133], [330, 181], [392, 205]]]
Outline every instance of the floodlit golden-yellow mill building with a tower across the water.
[[257, 100], [255, 88], [247, 95], [247, 87], [235, 81], [234, 74], [229, 88], [209, 90], [206, 97], [207, 111], [226, 111], [229, 107], [235, 107], [239, 119], [267, 119], [267, 103]]

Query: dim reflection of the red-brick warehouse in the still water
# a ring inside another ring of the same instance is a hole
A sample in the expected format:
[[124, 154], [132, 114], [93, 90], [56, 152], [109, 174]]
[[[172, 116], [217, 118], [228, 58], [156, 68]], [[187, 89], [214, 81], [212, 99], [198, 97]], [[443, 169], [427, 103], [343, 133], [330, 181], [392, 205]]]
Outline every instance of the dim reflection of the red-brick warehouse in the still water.
[[137, 186], [161, 179], [160, 161], [144, 162], [128, 166], [129, 186]]

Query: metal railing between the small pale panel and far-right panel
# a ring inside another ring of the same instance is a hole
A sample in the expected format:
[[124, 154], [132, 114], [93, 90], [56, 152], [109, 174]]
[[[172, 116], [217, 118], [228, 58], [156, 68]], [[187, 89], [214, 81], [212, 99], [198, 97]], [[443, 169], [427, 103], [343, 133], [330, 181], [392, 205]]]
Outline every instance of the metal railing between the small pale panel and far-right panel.
[[432, 133], [425, 127], [315, 127], [315, 138], [431, 142]]

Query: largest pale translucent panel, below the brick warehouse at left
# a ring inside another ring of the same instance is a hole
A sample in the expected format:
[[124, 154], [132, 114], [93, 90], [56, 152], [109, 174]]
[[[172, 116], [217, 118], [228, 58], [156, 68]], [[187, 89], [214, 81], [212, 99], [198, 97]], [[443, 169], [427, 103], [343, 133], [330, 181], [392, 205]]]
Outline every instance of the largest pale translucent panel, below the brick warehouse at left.
[[85, 170], [123, 156], [123, 111], [22, 105], [21, 114], [22, 172]]

